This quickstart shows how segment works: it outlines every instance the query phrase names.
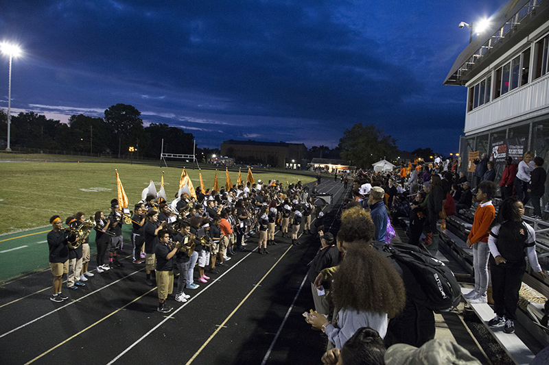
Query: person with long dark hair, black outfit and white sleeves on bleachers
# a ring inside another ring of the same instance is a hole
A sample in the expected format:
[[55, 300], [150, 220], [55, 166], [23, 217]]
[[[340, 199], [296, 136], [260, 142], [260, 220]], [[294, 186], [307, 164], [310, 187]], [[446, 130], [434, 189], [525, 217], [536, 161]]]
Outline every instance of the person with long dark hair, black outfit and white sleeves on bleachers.
[[490, 326], [504, 325], [505, 333], [515, 332], [515, 312], [526, 271], [525, 255], [541, 281], [546, 275], [535, 249], [536, 234], [530, 225], [522, 221], [524, 204], [519, 197], [505, 199], [498, 211], [498, 218], [490, 231], [490, 271], [495, 317], [488, 321]]

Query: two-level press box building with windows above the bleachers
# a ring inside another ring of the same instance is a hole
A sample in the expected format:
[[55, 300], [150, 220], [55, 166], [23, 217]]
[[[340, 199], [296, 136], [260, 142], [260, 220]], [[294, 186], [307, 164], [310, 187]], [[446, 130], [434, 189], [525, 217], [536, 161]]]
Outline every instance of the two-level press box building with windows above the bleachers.
[[471, 159], [482, 153], [495, 162], [496, 181], [509, 155], [518, 162], [525, 151], [534, 151], [547, 166], [548, 20], [549, 1], [510, 0], [449, 71], [444, 85], [467, 87], [460, 156], [469, 174], [474, 170]]

